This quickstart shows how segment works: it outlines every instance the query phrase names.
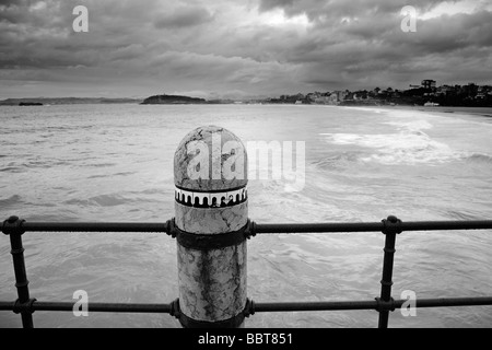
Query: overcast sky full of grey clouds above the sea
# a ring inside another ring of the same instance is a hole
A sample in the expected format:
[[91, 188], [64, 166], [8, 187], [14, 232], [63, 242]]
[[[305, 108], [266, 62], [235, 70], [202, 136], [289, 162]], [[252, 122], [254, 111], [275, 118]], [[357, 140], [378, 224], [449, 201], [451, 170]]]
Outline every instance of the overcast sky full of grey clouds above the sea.
[[0, 100], [492, 84], [491, 54], [492, 0], [0, 0]]

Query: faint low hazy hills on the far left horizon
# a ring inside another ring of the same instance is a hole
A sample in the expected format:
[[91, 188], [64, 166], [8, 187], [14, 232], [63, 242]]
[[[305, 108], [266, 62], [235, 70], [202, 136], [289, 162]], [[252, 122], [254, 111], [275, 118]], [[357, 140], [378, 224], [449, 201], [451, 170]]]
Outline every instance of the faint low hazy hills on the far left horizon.
[[0, 105], [3, 106], [19, 106], [23, 105], [32, 105], [32, 104], [43, 104], [43, 105], [78, 105], [78, 104], [112, 104], [112, 103], [141, 103], [142, 100], [136, 98], [103, 98], [103, 97], [89, 97], [89, 98], [80, 98], [80, 97], [59, 97], [59, 98], [47, 98], [47, 97], [37, 97], [37, 98], [8, 98], [0, 101]]

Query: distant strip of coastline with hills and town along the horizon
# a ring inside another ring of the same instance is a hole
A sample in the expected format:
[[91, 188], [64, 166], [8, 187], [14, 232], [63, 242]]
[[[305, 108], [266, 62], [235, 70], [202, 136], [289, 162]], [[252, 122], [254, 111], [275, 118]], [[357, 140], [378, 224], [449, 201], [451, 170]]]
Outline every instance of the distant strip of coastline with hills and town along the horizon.
[[206, 100], [181, 95], [155, 95], [148, 98], [9, 98], [0, 105], [40, 106], [59, 104], [305, 104], [336, 106], [453, 106], [453, 107], [492, 107], [492, 85], [440, 85], [435, 80], [426, 79], [420, 85], [410, 85], [408, 90], [374, 88], [358, 91], [327, 91], [281, 95], [253, 100]]

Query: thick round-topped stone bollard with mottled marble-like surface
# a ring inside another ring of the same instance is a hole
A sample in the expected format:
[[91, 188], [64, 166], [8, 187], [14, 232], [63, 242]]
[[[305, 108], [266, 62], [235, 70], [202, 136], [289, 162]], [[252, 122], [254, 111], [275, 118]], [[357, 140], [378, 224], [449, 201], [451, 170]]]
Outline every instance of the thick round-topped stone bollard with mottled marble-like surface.
[[218, 127], [188, 133], [174, 159], [179, 299], [186, 328], [236, 328], [246, 306], [247, 154]]

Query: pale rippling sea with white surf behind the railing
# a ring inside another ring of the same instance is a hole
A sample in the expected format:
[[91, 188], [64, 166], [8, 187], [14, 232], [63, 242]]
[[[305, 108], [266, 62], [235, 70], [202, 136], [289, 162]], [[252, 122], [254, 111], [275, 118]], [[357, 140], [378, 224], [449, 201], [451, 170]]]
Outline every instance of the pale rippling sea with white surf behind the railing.
[[[200, 126], [243, 142], [304, 142], [304, 183], [251, 178], [257, 223], [492, 219], [492, 109], [313, 105], [52, 105], [0, 107], [0, 219], [165, 222], [174, 217], [173, 160]], [[294, 155], [294, 149], [292, 150]], [[302, 150], [302, 149], [300, 149]], [[382, 233], [260, 235], [248, 241], [255, 302], [372, 301]], [[169, 303], [178, 296], [176, 242], [152, 233], [26, 233], [32, 298]], [[393, 296], [491, 296], [492, 231], [405, 232]], [[16, 299], [10, 242], [0, 236], [0, 301]], [[407, 294], [408, 295], [408, 294]], [[375, 311], [257, 313], [246, 327], [377, 327]], [[178, 328], [165, 314], [36, 312], [36, 327]], [[0, 327], [21, 327], [0, 312]], [[389, 327], [492, 327], [491, 306], [390, 313]]]

